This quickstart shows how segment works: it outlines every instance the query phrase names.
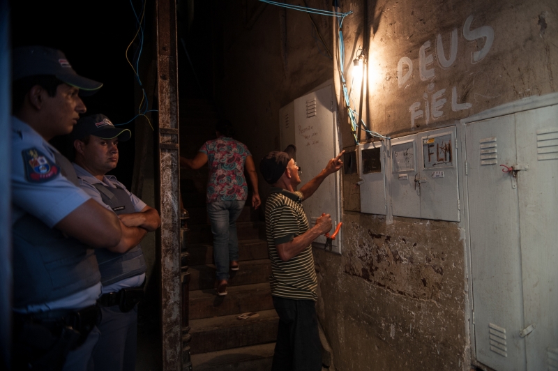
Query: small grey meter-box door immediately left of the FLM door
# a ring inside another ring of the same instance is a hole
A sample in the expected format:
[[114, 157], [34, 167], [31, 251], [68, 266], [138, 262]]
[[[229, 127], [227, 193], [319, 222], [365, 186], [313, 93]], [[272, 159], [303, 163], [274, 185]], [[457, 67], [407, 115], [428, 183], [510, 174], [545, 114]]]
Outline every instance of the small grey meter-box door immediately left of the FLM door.
[[421, 218], [421, 196], [415, 178], [416, 135], [391, 139], [391, 209], [395, 216]]

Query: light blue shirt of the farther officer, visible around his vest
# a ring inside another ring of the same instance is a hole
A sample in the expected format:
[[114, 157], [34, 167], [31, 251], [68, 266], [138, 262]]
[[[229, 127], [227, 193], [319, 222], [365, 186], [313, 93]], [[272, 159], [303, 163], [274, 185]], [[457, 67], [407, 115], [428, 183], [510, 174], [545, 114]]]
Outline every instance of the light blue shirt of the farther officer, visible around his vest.
[[[116, 176], [114, 175], [105, 175], [103, 176], [103, 181], [100, 181], [95, 176], [91, 175], [86, 169], [77, 165], [76, 163], [72, 164], [75, 169], [75, 173], [77, 174], [77, 178], [80, 179], [80, 187], [84, 190], [87, 195], [91, 196], [99, 204], [105, 206], [110, 211], [113, 211], [110, 206], [103, 202], [103, 198], [100, 195], [100, 192], [93, 186], [93, 184], [103, 184], [109, 188], [121, 188], [126, 191], [128, 196], [130, 196], [130, 200], [134, 205], [134, 209], [136, 213], [140, 213], [147, 204], [139, 199], [136, 195], [126, 189], [126, 186], [116, 180]], [[114, 212], [114, 211], [113, 211]], [[126, 278], [119, 282], [116, 282], [112, 285], [103, 286], [103, 294], [107, 294], [109, 292], [118, 292], [120, 289], [128, 289], [130, 287], [139, 287], [142, 285], [145, 279], [145, 273], [140, 275], [135, 275], [134, 277]]]

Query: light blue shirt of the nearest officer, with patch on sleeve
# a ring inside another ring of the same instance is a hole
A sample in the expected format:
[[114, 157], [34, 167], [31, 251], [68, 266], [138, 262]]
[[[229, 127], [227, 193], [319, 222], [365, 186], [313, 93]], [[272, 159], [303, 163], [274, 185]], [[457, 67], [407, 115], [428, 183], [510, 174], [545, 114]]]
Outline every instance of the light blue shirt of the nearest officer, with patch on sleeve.
[[[31, 126], [12, 117], [12, 225], [29, 213], [53, 228], [91, 198], [60, 174], [54, 160], [57, 152]], [[99, 296], [100, 282], [66, 298], [14, 310], [78, 309], [93, 305]]]

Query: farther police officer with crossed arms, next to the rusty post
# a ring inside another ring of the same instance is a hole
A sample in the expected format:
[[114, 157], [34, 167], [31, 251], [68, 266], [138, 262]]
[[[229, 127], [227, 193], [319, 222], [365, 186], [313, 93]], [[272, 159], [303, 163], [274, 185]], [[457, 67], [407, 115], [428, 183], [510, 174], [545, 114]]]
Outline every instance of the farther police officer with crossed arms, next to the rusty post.
[[80, 187], [91, 198], [119, 215], [126, 253], [96, 250], [103, 296], [99, 304], [103, 319], [101, 337], [93, 360], [98, 371], [135, 370], [137, 303], [143, 298], [145, 260], [140, 241], [160, 226], [159, 213], [147, 206], [112, 175], [119, 159], [118, 142], [130, 139], [128, 129], [117, 129], [103, 114], [78, 121], [72, 137], [74, 168]]

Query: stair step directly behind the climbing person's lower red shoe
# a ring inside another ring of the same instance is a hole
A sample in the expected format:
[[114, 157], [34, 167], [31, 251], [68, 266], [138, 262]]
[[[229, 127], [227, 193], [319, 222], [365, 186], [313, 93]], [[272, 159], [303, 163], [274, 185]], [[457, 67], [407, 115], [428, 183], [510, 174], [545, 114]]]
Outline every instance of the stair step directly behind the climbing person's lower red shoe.
[[[213, 289], [217, 285], [216, 267], [213, 264], [190, 266], [190, 291]], [[229, 287], [269, 282], [269, 259], [241, 262], [239, 271], [230, 271]]]

